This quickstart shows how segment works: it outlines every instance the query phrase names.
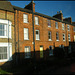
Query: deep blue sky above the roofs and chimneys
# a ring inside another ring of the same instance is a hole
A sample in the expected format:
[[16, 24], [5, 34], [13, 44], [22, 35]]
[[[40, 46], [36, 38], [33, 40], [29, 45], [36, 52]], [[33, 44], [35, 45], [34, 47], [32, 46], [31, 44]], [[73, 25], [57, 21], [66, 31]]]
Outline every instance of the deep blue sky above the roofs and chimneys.
[[[31, 1], [10, 1], [12, 5], [24, 8]], [[62, 11], [63, 17], [72, 17], [75, 22], [75, 1], [34, 1], [35, 12], [42, 13], [48, 16], [57, 14], [57, 11]]]

